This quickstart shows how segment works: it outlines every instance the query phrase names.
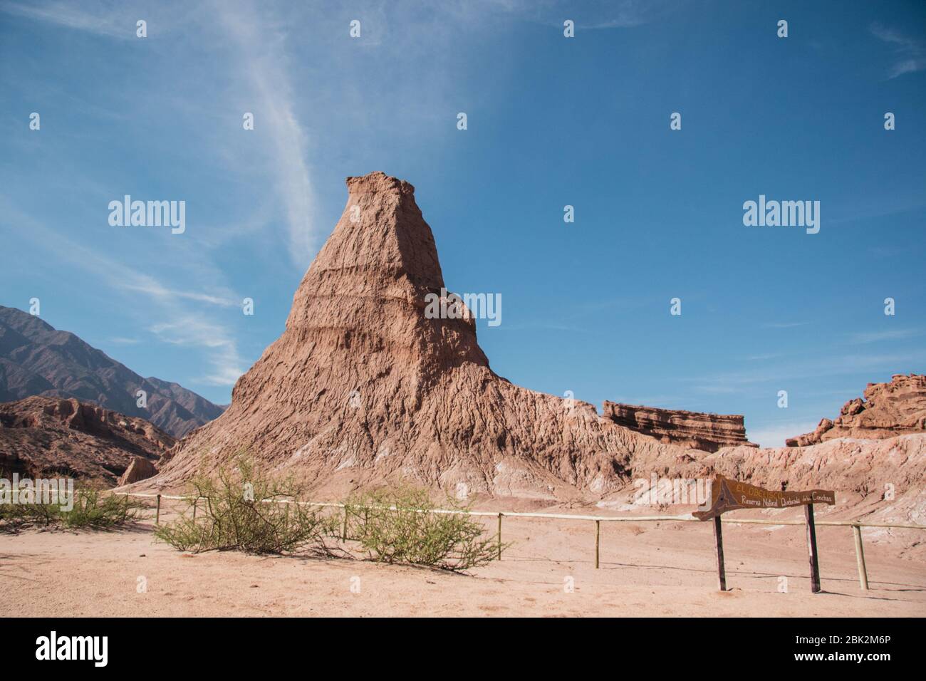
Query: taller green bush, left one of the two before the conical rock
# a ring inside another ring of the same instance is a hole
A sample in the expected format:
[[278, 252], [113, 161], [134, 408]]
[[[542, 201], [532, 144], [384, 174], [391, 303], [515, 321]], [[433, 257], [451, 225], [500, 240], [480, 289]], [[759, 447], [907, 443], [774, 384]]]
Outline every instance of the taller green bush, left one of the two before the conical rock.
[[[283, 553], [312, 549], [327, 553], [324, 537], [333, 521], [297, 503], [300, 489], [290, 479], [275, 481], [239, 458], [237, 467], [220, 468], [215, 477], [197, 475], [188, 509], [173, 523], [158, 525], [155, 536], [181, 551], [240, 550]], [[193, 507], [196, 504], [196, 517]]]

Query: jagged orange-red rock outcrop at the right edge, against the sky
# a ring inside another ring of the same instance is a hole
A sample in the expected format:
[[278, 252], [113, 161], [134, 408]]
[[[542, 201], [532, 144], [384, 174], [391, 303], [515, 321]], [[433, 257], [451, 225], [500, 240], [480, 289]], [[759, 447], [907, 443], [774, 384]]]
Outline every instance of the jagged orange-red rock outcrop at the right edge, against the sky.
[[822, 419], [813, 433], [785, 440], [788, 447], [807, 447], [836, 437], [880, 440], [926, 433], [926, 376], [895, 374], [890, 383], [870, 383], [864, 397], [843, 405], [835, 421]]

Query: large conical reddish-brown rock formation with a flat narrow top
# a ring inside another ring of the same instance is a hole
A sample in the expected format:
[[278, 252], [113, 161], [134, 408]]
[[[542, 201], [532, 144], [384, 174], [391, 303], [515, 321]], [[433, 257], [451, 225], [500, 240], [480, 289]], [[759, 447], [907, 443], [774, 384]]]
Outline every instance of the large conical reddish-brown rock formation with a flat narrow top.
[[401, 476], [451, 493], [567, 498], [625, 485], [634, 450], [675, 449], [497, 376], [473, 320], [425, 316], [444, 277], [414, 187], [382, 172], [347, 187], [285, 332], [156, 483], [246, 450], [319, 496]]

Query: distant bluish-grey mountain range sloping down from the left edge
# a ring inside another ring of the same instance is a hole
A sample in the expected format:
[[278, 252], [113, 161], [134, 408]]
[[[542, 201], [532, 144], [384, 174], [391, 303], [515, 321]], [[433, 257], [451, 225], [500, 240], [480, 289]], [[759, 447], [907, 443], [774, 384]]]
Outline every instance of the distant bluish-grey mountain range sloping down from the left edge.
[[[136, 405], [138, 390], [146, 393], [147, 408]], [[143, 378], [34, 315], [0, 306], [0, 402], [33, 395], [93, 402], [150, 421], [174, 437], [225, 410], [176, 383]]]

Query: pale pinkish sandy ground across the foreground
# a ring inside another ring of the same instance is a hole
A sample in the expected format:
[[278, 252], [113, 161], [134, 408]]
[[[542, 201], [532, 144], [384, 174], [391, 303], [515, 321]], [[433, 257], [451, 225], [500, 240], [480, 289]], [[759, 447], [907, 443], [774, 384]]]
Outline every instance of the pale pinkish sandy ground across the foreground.
[[[559, 511], [562, 512], [562, 511]], [[569, 511], [588, 512], [588, 511]], [[169, 511], [162, 522], [169, 520]], [[494, 521], [487, 523], [494, 531]], [[0, 536], [5, 611], [19, 615], [926, 616], [915, 530], [865, 530], [870, 591], [859, 589], [852, 532], [819, 527], [824, 593], [809, 592], [804, 528], [727, 525], [717, 590], [710, 523], [507, 518], [503, 560], [472, 575], [308, 556], [190, 555], [147, 521], [118, 532]], [[921, 534], [921, 533], [920, 533]], [[348, 545], [350, 542], [348, 542]], [[144, 577], [146, 591], [139, 592]], [[787, 592], [779, 591], [786, 578]], [[569, 590], [569, 586], [573, 586]], [[353, 588], [352, 588], [353, 587]]]

